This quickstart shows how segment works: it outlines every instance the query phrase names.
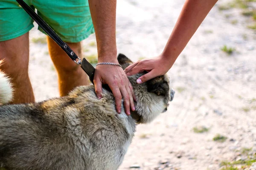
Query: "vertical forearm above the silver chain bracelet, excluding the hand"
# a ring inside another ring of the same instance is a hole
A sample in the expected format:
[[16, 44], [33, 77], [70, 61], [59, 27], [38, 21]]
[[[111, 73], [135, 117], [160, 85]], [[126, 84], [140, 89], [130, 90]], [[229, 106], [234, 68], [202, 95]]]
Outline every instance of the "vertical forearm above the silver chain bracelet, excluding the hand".
[[96, 34], [98, 61], [116, 61], [116, 0], [89, 0]]

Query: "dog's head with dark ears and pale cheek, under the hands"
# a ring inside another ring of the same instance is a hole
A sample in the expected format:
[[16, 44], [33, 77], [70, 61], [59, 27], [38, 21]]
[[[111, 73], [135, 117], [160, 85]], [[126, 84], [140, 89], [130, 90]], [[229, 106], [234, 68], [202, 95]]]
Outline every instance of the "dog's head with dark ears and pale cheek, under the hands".
[[[123, 54], [119, 54], [117, 59], [123, 69], [133, 63]], [[166, 74], [145, 83], [137, 84], [136, 80], [143, 74], [146, 74], [146, 72], [128, 77], [137, 100], [135, 102], [136, 111], [131, 112], [131, 116], [137, 123], [151, 122], [160, 113], [167, 111], [169, 101], [172, 101], [175, 94], [175, 91], [169, 87], [169, 78]]]

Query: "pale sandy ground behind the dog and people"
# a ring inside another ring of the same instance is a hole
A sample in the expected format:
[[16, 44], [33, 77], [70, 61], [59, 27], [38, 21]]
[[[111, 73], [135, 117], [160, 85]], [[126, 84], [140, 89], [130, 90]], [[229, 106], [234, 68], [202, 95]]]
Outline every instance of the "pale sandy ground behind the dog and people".
[[[256, 152], [256, 32], [240, 9], [219, 11], [226, 2], [216, 4], [169, 71], [175, 99], [154, 122], [137, 126], [120, 170], [218, 170], [244, 148]], [[134, 61], [160, 54], [183, 3], [119, 0], [118, 52]], [[30, 39], [38, 37], [44, 34], [33, 28]], [[95, 35], [83, 41], [84, 56], [96, 54], [95, 41]], [[227, 55], [224, 45], [235, 52]], [[29, 75], [37, 101], [59, 96], [46, 44], [30, 42]], [[209, 131], [195, 133], [199, 126]], [[218, 133], [227, 140], [213, 141]]]

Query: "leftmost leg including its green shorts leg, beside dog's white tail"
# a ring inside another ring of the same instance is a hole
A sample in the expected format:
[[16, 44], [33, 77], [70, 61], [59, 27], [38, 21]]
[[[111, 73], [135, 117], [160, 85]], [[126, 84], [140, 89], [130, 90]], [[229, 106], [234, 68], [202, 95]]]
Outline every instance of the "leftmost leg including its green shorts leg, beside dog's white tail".
[[[25, 2], [29, 4], [29, 0]], [[15, 104], [35, 101], [28, 75], [28, 32], [33, 27], [33, 20], [15, 0], [1, 0], [0, 69], [11, 77]]]

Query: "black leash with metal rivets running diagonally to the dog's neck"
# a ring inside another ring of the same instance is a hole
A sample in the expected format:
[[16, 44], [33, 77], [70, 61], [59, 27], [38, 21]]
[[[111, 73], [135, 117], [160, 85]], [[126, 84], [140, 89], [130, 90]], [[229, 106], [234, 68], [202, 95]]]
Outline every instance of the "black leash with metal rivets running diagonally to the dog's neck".
[[30, 8], [23, 0], [16, 0], [17, 3], [29, 14], [30, 17], [40, 26], [48, 35], [52, 38], [66, 53], [67, 55], [74, 61], [76, 64], [81, 65], [81, 68], [85, 71], [85, 73], [89, 76], [90, 82], [93, 83], [94, 71], [95, 68], [88, 62], [85, 58], [82, 60], [76, 55], [76, 53], [61, 40], [60, 37], [52, 30], [51, 27], [40, 17], [35, 11]]

